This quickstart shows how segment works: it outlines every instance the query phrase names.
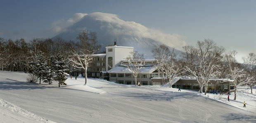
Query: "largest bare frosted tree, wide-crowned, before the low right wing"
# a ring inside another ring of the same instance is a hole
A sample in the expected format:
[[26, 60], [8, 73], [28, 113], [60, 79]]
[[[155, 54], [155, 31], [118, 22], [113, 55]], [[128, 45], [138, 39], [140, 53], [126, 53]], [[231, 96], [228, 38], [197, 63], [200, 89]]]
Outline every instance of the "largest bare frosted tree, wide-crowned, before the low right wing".
[[196, 78], [200, 87], [199, 93], [202, 93], [205, 87], [206, 95], [209, 80], [221, 73], [220, 62], [225, 48], [217, 46], [213, 40], [204, 39], [204, 41], [197, 41], [197, 47], [183, 46], [183, 50], [185, 71]]

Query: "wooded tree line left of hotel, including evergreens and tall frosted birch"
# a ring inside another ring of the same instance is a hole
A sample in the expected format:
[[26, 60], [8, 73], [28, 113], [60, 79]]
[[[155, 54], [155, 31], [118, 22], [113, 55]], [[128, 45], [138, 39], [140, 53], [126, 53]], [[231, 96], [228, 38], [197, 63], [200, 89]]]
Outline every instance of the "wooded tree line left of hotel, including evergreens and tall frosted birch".
[[31, 73], [28, 82], [41, 80], [48, 84], [52, 80], [64, 84], [68, 73], [74, 69], [85, 70], [85, 84], [87, 84], [86, 70], [91, 66], [92, 55], [100, 48], [97, 45], [96, 32], [83, 30], [78, 34], [78, 42], [55, 39], [38, 39], [26, 43], [24, 39], [0, 38], [0, 68], [2, 71], [22, 71]]

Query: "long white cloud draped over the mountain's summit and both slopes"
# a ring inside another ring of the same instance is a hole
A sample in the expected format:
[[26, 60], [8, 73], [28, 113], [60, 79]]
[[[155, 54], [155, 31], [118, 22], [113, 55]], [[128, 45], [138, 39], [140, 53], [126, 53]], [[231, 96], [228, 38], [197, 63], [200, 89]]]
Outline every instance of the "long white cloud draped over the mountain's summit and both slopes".
[[[140, 36], [145, 38], [150, 38], [156, 41], [160, 41], [161, 43], [166, 44], [170, 47], [175, 47], [178, 50], [182, 50], [182, 46], [185, 46], [185, 41], [182, 38], [185, 36], [179, 34], [167, 34], [161, 32], [160, 30], [154, 30], [147, 28], [140, 23], [135, 23], [133, 21], [123, 21], [118, 18], [116, 14], [108, 14], [101, 12], [94, 12], [91, 14], [82, 14], [76, 13], [72, 18], [69, 18], [68, 21], [58, 20], [52, 23], [52, 29], [50, 32], [53, 32], [56, 36], [57, 33], [64, 32], [66, 30], [70, 30], [69, 27], [74, 23], [81, 21], [82, 18], [90, 18], [95, 21], [100, 21], [100, 28], [106, 29], [110, 34], [115, 35], [129, 35], [129, 36]], [[76, 30], [86, 29], [86, 27], [76, 27]], [[74, 30], [73, 30], [74, 31]]]

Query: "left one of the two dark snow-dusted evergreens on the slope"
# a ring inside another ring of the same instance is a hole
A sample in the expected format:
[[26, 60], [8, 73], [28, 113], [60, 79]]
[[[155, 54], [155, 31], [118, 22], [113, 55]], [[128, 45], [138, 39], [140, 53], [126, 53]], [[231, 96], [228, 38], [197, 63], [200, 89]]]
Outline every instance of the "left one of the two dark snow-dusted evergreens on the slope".
[[35, 55], [30, 64], [33, 75], [36, 75], [36, 77], [39, 78], [39, 84], [41, 84], [41, 80], [47, 79], [47, 75], [51, 73], [47, 66], [47, 59], [41, 51]]

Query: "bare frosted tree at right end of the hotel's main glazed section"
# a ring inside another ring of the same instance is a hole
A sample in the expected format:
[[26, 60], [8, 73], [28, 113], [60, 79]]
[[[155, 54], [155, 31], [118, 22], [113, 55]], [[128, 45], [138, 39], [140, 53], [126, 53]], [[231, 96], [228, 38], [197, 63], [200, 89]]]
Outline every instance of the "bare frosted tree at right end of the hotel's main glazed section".
[[169, 87], [171, 87], [173, 84], [172, 77], [175, 77], [181, 71], [181, 67], [177, 67], [178, 64], [177, 62], [175, 62], [178, 53], [175, 53], [174, 51], [175, 48], [172, 48], [172, 50], [170, 50], [168, 46], [164, 44], [155, 47], [151, 51], [154, 58], [156, 59], [158, 67], [160, 67], [159, 70], [166, 74], [169, 82]]

